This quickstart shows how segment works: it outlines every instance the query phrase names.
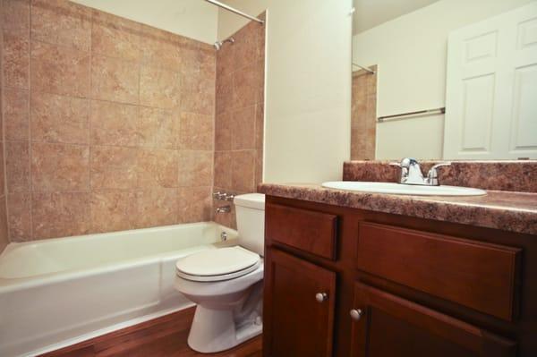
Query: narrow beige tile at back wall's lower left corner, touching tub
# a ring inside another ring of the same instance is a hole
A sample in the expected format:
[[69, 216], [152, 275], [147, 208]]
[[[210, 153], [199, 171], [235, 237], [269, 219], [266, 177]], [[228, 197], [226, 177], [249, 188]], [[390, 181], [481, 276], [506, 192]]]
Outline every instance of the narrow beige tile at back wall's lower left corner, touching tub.
[[12, 242], [31, 239], [30, 192], [7, 195], [9, 237]]

